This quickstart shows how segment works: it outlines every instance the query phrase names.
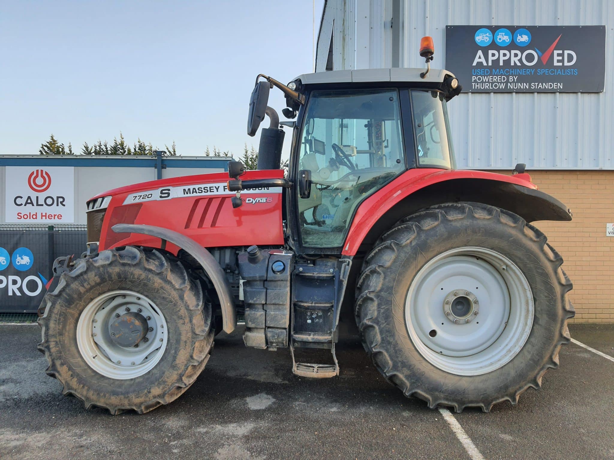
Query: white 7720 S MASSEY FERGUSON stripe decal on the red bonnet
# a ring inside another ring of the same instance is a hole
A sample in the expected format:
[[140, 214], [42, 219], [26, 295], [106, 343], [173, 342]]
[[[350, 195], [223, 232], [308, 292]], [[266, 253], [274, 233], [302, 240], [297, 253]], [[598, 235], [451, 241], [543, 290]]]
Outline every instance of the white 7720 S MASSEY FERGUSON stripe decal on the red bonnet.
[[[255, 190], [243, 190], [243, 193], [281, 193], [281, 187], [262, 187]], [[183, 198], [187, 196], [223, 196], [234, 195], [236, 192], [229, 191], [226, 182], [200, 183], [180, 185], [176, 187], [161, 187], [155, 190], [139, 191], [126, 196], [123, 204], [142, 203], [144, 201], [160, 201], [171, 198]]]

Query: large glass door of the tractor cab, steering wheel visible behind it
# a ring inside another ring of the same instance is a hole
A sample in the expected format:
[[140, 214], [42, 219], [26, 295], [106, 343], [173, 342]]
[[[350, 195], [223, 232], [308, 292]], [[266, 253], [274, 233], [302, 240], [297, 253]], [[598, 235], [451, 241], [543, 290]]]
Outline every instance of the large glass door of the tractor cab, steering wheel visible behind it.
[[397, 90], [314, 91], [299, 170], [311, 171], [308, 198], [298, 196], [305, 247], [343, 244], [354, 211], [405, 170]]

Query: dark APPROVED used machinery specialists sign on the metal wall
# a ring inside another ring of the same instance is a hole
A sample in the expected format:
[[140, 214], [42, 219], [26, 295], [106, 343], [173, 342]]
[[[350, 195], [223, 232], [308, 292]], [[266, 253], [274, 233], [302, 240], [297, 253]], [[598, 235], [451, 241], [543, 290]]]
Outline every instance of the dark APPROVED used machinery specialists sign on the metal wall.
[[605, 26], [446, 26], [446, 64], [464, 93], [599, 93]]

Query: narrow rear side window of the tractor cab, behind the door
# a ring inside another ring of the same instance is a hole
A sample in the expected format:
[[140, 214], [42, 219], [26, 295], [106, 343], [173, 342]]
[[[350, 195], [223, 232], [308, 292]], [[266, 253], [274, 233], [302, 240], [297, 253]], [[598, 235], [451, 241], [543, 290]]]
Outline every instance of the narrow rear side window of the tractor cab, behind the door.
[[419, 166], [452, 169], [454, 154], [448, 136], [448, 110], [443, 93], [411, 91], [411, 107]]

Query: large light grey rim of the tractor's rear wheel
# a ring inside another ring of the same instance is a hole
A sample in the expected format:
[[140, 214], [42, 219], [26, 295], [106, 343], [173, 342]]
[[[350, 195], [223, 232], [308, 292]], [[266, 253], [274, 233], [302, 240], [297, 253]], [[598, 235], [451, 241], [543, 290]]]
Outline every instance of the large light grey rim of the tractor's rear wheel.
[[414, 277], [405, 302], [407, 329], [418, 351], [457, 375], [504, 366], [523, 348], [533, 317], [523, 272], [506, 256], [480, 247], [455, 248], [431, 259]]

